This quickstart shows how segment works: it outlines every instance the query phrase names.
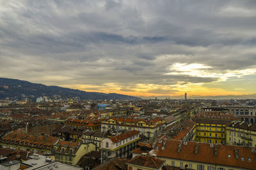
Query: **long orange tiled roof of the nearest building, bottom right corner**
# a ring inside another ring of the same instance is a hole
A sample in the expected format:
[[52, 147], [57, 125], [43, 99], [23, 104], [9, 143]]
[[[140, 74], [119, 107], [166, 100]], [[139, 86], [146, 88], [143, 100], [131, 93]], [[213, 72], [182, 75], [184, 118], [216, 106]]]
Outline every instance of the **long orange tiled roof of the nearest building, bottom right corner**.
[[[182, 143], [180, 152], [177, 152], [180, 145], [179, 140], [167, 139], [164, 150], [161, 149], [163, 143], [164, 140], [161, 140], [161, 142], [158, 140], [154, 148], [149, 153], [156, 154], [157, 157], [166, 157], [170, 159], [255, 169], [256, 153], [252, 152], [252, 148], [234, 145], [217, 145], [218, 154], [215, 155], [214, 150], [216, 145], [211, 147], [209, 143], [198, 143], [198, 153], [195, 153], [196, 142], [187, 141], [186, 145]], [[238, 158], [236, 158], [235, 148], [238, 150]], [[141, 153], [143, 151], [141, 151], [140, 148], [137, 148], [132, 152]], [[230, 157], [228, 155], [230, 155]]]

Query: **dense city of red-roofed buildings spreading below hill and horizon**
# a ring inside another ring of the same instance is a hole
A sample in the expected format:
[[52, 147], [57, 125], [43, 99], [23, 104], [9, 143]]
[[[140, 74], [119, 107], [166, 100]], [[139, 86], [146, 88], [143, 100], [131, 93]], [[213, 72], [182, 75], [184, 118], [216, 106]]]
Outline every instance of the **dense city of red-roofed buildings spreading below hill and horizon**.
[[0, 102], [1, 168], [254, 169], [256, 100]]

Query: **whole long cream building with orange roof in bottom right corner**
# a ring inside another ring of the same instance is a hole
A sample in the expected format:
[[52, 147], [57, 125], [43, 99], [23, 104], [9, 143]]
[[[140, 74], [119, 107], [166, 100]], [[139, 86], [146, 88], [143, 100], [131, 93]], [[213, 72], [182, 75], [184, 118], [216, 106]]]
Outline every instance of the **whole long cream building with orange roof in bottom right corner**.
[[194, 141], [157, 140], [150, 151], [137, 148], [132, 157], [147, 153], [166, 160], [173, 169], [240, 170], [255, 169], [255, 148], [198, 143]]

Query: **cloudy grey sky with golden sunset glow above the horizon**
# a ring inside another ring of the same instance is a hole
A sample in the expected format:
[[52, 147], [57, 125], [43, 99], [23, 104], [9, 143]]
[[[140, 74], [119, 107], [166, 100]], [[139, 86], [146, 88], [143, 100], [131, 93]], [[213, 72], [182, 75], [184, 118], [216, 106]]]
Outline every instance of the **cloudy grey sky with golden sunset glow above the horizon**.
[[0, 0], [0, 77], [139, 97], [250, 96], [255, 28], [255, 0]]

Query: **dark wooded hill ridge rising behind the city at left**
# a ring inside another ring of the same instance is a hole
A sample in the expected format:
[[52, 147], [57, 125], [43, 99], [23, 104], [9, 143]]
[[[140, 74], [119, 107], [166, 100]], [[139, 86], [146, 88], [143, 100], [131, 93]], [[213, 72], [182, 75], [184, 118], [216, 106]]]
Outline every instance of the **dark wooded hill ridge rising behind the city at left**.
[[122, 94], [104, 94], [100, 92], [85, 92], [82, 90], [68, 89], [58, 86], [47, 86], [29, 81], [0, 78], [0, 99], [6, 97], [22, 99], [26, 96], [33, 101], [37, 97], [60, 95], [61, 98], [80, 97], [80, 99], [104, 100], [104, 99], [120, 99], [120, 100], [137, 100], [139, 97], [127, 96]]

